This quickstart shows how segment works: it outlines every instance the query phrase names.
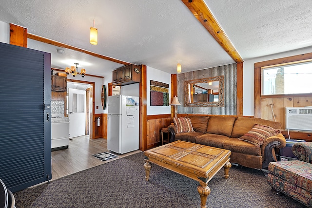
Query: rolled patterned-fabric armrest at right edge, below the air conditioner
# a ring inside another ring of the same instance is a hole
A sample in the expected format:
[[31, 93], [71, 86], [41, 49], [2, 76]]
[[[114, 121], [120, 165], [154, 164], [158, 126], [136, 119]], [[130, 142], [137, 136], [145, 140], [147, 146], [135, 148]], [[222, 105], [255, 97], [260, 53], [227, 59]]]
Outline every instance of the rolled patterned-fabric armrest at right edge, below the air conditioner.
[[292, 153], [307, 163], [312, 163], [312, 142], [297, 142], [292, 145]]

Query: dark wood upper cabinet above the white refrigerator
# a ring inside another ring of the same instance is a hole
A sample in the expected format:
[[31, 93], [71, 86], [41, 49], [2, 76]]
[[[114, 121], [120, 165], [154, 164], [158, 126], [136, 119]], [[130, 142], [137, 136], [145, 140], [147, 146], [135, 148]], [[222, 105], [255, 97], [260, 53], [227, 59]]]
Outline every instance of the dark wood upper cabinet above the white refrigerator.
[[141, 67], [130, 64], [113, 71], [114, 85], [127, 85], [141, 81]]

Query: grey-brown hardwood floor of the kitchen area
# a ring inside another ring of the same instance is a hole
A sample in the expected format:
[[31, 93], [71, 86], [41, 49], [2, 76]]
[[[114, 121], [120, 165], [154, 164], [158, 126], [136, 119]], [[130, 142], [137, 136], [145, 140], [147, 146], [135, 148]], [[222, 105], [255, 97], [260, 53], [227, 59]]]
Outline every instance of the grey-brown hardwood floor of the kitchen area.
[[69, 140], [68, 149], [52, 151], [52, 180], [140, 152], [139, 150], [125, 154], [112, 152], [118, 157], [105, 162], [92, 156], [104, 151], [108, 150], [107, 140], [103, 138], [89, 139], [89, 135], [85, 135]]

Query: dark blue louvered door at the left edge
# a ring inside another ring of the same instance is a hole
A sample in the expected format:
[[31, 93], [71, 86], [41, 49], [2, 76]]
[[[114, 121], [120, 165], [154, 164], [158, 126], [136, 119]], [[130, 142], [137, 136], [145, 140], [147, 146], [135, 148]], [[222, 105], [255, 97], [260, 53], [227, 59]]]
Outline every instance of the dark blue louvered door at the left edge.
[[12, 192], [51, 179], [51, 55], [0, 43], [0, 179]]

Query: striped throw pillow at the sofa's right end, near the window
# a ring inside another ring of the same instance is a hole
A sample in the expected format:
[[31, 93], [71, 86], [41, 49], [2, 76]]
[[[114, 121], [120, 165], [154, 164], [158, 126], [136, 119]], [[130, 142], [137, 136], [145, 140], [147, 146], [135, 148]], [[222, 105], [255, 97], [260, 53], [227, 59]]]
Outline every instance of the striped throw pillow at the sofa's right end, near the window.
[[238, 139], [250, 142], [256, 147], [260, 147], [266, 138], [274, 136], [277, 133], [280, 133], [280, 130], [261, 124], [255, 124], [249, 132], [245, 133]]

